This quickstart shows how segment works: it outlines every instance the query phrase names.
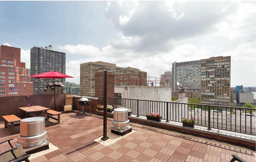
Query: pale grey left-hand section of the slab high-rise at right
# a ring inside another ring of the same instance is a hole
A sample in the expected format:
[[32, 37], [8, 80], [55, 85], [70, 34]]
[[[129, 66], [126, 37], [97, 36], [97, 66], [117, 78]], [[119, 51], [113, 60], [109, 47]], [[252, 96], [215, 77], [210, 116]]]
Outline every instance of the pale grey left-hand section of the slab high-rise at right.
[[172, 63], [172, 90], [180, 88], [177, 82], [188, 92], [200, 92], [200, 60]]

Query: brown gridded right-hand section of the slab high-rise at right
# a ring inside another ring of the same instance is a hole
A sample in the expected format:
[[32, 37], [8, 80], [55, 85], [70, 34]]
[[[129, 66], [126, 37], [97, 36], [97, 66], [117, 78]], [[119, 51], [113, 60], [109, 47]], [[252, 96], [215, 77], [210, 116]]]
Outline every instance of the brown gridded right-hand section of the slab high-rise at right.
[[230, 56], [201, 61], [201, 104], [230, 106]]

